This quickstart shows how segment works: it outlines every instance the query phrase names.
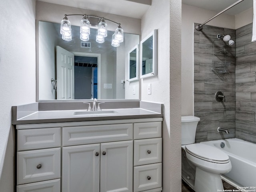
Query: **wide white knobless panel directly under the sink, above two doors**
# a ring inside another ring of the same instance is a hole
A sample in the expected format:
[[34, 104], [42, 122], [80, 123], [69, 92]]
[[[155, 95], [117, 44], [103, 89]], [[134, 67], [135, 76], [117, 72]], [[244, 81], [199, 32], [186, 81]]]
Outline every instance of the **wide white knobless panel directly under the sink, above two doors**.
[[132, 123], [63, 128], [63, 146], [132, 140]]

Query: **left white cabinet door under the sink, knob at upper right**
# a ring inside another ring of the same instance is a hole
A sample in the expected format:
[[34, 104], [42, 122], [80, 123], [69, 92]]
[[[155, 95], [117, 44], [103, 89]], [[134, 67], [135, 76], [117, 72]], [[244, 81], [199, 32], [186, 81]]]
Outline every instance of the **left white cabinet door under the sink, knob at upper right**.
[[63, 147], [62, 192], [99, 192], [100, 144]]

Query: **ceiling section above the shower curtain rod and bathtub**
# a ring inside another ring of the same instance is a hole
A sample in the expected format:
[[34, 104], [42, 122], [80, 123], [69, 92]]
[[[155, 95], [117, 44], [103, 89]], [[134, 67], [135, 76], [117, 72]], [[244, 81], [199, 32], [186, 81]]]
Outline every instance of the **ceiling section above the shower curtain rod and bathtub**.
[[[221, 12], [228, 6], [237, 2], [238, 0], [182, 0], [183, 4], [192, 5], [207, 10], [213, 10], [216, 12]], [[237, 4], [236, 6], [230, 8], [225, 13], [230, 15], [236, 15], [243, 12], [249, 8], [252, 8], [253, 0], [244, 0]]]

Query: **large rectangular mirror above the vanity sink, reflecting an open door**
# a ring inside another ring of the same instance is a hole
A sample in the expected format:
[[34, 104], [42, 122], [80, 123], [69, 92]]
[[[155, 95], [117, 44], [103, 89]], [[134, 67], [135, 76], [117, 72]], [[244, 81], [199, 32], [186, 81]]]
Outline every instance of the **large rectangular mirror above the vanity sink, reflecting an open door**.
[[[124, 34], [119, 47], [111, 46], [113, 32], [108, 31], [105, 42], [95, 41], [96, 29], [91, 28], [90, 40], [80, 40], [80, 27], [72, 26], [72, 41], [64, 41], [60, 24], [38, 22], [38, 100], [66, 99], [139, 99], [139, 94], [128, 91], [128, 52], [139, 44], [136, 34]], [[74, 56], [74, 73], [70, 72], [70, 88], [74, 94], [62, 89], [62, 66], [59, 61]], [[69, 57], [70, 55], [70, 57]], [[74, 75], [72, 75], [74, 74]], [[131, 85], [132, 86], [132, 85]]]

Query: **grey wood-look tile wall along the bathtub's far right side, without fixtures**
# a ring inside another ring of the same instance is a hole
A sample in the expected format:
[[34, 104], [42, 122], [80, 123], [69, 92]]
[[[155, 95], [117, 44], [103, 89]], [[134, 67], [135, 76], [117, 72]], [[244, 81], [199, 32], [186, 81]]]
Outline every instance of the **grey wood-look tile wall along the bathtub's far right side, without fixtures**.
[[236, 30], [236, 137], [256, 143], [256, 42], [252, 24]]

